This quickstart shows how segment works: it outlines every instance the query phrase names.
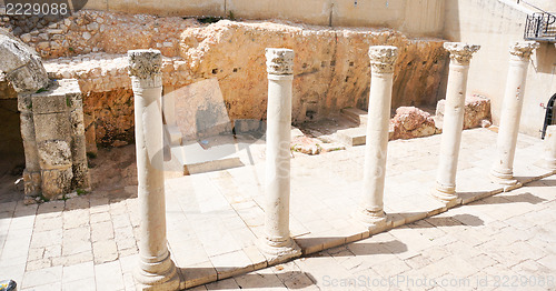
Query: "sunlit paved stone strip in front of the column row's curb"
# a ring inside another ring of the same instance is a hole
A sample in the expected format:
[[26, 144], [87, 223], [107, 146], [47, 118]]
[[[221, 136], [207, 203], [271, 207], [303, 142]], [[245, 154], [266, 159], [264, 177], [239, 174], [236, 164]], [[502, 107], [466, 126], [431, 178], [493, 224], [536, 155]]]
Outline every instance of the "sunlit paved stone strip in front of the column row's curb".
[[556, 290], [556, 175], [192, 290]]

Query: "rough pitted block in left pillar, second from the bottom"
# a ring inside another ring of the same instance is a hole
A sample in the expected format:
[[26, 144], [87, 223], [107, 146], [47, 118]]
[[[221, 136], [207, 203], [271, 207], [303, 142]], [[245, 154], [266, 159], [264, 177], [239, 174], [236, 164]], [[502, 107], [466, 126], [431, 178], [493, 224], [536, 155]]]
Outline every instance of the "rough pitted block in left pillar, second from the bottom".
[[37, 143], [37, 149], [39, 152], [40, 168], [57, 169], [70, 167], [71, 160], [71, 148], [68, 141], [63, 140], [47, 140]]

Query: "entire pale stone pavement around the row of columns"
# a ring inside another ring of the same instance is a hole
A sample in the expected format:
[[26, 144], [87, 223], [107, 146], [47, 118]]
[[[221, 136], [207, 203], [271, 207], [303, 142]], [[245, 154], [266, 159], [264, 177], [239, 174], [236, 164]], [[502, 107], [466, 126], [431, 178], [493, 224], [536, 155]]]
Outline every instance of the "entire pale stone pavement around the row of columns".
[[[185, 277], [182, 288], [217, 279], [222, 281], [207, 287], [316, 289], [376, 273], [401, 273], [407, 280], [499, 273], [500, 283], [505, 273], [535, 273], [540, 280], [552, 268], [554, 274], [555, 177], [444, 212], [429, 197], [439, 139], [389, 142], [385, 210], [396, 228], [366, 240], [368, 231], [350, 218], [360, 194], [363, 147], [295, 154], [291, 232], [304, 253], [319, 253], [246, 275], [240, 274], [267, 267], [256, 247], [264, 215], [264, 146], [242, 153], [252, 164], [167, 180], [168, 241]], [[457, 188], [463, 203], [502, 192], [487, 177], [495, 140], [487, 129], [464, 131]], [[538, 139], [519, 136], [515, 175], [522, 182], [554, 173], [534, 165], [540, 152]], [[14, 279], [20, 290], [133, 290], [139, 219], [129, 181], [135, 165], [113, 164], [116, 172], [98, 165], [106, 181], [92, 193], [40, 205], [0, 203], [0, 277]], [[121, 181], [110, 177], [119, 174]], [[229, 277], [235, 278], [224, 280]]]

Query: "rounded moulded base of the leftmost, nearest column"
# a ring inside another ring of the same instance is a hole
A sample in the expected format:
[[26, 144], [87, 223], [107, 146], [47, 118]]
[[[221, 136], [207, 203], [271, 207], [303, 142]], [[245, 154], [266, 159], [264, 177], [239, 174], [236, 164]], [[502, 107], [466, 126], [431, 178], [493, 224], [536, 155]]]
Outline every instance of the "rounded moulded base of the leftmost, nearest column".
[[141, 260], [133, 277], [137, 281], [137, 290], [172, 291], [179, 290], [180, 285], [179, 274], [169, 252], [162, 261]]

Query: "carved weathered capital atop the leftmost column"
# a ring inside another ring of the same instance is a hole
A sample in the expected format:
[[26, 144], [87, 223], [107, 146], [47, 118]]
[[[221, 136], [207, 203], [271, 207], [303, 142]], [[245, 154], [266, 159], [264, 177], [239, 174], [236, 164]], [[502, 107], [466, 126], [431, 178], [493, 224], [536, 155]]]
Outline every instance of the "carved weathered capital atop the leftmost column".
[[155, 79], [160, 77], [162, 54], [159, 50], [130, 50], [128, 51], [128, 72], [139, 79]]

